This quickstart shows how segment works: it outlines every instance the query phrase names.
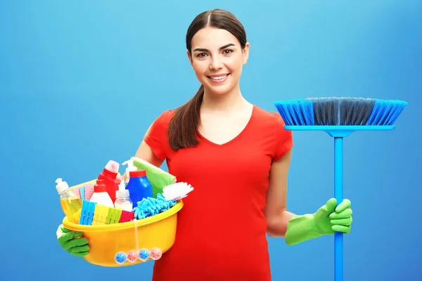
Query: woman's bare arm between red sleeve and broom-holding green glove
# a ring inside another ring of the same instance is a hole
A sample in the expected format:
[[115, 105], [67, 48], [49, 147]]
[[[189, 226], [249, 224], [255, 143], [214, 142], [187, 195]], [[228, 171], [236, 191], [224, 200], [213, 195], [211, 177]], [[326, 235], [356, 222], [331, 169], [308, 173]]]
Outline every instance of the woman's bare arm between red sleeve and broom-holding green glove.
[[287, 211], [287, 176], [292, 151], [286, 152], [277, 162], [271, 165], [269, 187], [264, 215], [267, 218], [267, 234], [270, 237], [284, 237], [287, 223], [293, 216]]

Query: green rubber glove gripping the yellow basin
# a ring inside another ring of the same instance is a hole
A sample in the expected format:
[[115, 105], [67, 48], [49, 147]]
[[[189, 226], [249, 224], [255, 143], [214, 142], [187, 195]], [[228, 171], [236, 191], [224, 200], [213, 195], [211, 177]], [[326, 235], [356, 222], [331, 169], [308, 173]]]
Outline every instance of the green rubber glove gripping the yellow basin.
[[68, 230], [60, 224], [57, 229], [57, 240], [60, 246], [73, 256], [87, 256], [88, 240], [82, 237], [84, 233]]

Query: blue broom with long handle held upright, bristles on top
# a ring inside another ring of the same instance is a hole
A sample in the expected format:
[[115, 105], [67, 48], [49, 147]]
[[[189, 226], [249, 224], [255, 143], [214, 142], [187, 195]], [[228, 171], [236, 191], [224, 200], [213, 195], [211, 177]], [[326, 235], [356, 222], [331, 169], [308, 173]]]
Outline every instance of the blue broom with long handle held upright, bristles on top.
[[[354, 131], [393, 130], [402, 100], [305, 98], [274, 102], [291, 131], [325, 131], [334, 138], [334, 197], [343, 201], [343, 138]], [[334, 233], [334, 277], [343, 281], [343, 233]]]

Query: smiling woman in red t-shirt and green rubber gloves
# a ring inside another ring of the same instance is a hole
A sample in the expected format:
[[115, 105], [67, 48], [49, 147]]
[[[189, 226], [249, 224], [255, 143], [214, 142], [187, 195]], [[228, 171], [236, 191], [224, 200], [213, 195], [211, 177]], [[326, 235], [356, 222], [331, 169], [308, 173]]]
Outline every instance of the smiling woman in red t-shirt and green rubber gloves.
[[[332, 198], [302, 216], [286, 210], [292, 134], [279, 114], [241, 94], [249, 46], [234, 15], [200, 13], [186, 48], [202, 86], [188, 103], [163, 112], [136, 152], [155, 166], [167, 159], [170, 174], [195, 188], [179, 212], [174, 246], [155, 261], [154, 281], [271, 280], [266, 234], [297, 244], [350, 231], [349, 200]], [[77, 235], [58, 230], [62, 246], [84, 256], [89, 246]]]

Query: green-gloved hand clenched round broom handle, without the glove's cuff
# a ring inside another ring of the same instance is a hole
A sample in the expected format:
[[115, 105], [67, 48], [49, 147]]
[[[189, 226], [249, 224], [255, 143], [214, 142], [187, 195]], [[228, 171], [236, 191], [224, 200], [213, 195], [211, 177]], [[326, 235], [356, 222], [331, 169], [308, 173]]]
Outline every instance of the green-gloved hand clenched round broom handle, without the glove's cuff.
[[350, 233], [352, 228], [352, 209], [350, 200], [343, 200], [337, 206], [337, 200], [331, 198], [314, 214], [316, 228], [321, 234]]

